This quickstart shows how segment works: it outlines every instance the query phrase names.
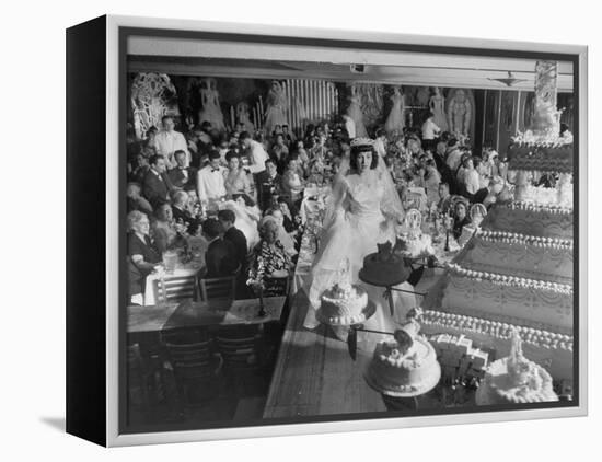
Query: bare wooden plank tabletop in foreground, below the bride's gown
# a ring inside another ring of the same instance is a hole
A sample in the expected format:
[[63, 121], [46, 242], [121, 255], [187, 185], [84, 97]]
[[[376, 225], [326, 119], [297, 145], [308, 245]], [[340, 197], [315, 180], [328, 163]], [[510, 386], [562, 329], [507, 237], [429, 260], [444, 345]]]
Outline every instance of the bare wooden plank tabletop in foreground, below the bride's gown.
[[371, 354], [358, 349], [354, 361], [347, 344], [329, 327], [303, 327], [309, 301], [299, 291], [271, 378], [264, 418], [385, 411], [380, 393], [363, 380]]

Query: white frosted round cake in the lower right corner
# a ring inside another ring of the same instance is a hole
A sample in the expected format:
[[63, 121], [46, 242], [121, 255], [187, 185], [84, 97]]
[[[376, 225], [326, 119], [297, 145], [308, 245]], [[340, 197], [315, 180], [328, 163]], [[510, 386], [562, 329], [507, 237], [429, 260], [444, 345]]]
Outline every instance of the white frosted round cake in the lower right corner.
[[494, 361], [476, 393], [476, 404], [517, 404], [558, 401], [552, 390], [552, 377], [537, 363], [522, 358]]

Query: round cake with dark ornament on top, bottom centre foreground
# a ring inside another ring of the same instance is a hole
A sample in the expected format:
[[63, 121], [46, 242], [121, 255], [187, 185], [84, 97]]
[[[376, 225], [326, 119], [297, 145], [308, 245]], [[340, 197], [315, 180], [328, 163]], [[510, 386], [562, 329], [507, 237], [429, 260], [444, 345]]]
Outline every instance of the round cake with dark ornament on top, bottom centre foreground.
[[414, 338], [406, 353], [397, 340], [377, 345], [366, 379], [383, 394], [417, 396], [433, 389], [441, 378], [435, 349], [421, 336]]

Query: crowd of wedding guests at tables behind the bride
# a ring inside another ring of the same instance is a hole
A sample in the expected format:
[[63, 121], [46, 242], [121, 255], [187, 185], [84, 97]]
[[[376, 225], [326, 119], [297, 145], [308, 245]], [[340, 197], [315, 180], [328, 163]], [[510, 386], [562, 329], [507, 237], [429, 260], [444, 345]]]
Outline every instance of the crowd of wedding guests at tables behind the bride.
[[[449, 132], [422, 143], [419, 129], [377, 129], [374, 139], [404, 207], [451, 217], [456, 238], [471, 204], [489, 207], [512, 181], [503, 155], [490, 148], [474, 155]], [[286, 125], [271, 134], [238, 126], [223, 136], [208, 122], [184, 135], [163, 117], [162, 130], [151, 127], [128, 145], [129, 302], [142, 303], [162, 253], [186, 247], [190, 236], [204, 243], [202, 277], [236, 274], [269, 291], [294, 269], [304, 188], [329, 184], [349, 151], [343, 119], [309, 125], [297, 138]]]

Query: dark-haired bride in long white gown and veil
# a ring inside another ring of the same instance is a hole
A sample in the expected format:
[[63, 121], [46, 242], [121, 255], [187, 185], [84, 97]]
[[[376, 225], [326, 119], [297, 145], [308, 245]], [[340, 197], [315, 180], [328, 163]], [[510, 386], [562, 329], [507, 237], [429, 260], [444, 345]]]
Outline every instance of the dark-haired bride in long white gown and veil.
[[[396, 322], [403, 321], [406, 313], [417, 305], [414, 294], [394, 291], [395, 313], [392, 317], [389, 302], [383, 297], [384, 289], [362, 282], [358, 276], [363, 258], [377, 252], [377, 244], [395, 242], [395, 227], [403, 216], [400, 197], [384, 161], [374, 151], [373, 141], [354, 140], [348, 169], [341, 169], [335, 178], [320, 249], [312, 265], [305, 327], [313, 328], [319, 324], [315, 310], [320, 307], [320, 296], [337, 281], [345, 257], [349, 261], [351, 281], [361, 285], [377, 305], [374, 315], [363, 323], [367, 328], [393, 332]], [[407, 282], [397, 287], [413, 290]], [[369, 335], [363, 339], [375, 342], [380, 338]], [[358, 339], [362, 340], [361, 337]]]

